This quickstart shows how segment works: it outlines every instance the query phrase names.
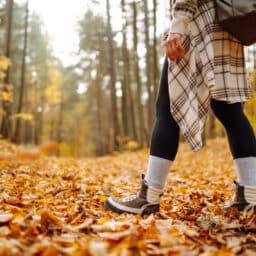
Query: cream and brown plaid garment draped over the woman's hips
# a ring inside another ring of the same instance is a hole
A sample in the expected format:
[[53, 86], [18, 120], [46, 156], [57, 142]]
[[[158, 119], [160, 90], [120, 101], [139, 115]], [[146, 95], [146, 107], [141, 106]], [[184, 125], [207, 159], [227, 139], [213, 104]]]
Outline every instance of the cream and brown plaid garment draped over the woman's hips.
[[184, 36], [185, 56], [169, 60], [171, 113], [195, 151], [202, 147], [211, 98], [244, 102], [250, 91], [243, 46], [214, 20], [214, 2], [199, 0]]

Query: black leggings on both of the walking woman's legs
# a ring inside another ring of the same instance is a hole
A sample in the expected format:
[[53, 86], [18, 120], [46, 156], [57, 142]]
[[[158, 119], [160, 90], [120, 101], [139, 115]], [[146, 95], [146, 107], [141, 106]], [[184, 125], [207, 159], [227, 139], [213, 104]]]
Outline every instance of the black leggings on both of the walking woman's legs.
[[[150, 155], [173, 161], [178, 151], [179, 126], [170, 112], [167, 73], [168, 61], [165, 59], [156, 102]], [[243, 112], [242, 104], [227, 104], [225, 101], [212, 99], [211, 108], [226, 129], [233, 158], [256, 156], [255, 135]]]

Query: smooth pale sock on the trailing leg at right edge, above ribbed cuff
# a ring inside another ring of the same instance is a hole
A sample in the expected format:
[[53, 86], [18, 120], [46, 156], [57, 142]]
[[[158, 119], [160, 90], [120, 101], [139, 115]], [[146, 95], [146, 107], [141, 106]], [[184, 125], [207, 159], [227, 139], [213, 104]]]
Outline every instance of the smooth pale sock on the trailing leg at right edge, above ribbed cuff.
[[256, 186], [256, 157], [243, 157], [234, 160], [238, 183]]

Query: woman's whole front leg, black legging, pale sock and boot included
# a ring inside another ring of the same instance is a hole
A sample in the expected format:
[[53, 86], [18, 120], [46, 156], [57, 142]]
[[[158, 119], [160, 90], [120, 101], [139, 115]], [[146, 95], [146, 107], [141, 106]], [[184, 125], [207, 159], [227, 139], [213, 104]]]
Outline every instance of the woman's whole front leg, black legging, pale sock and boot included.
[[160, 197], [174, 160], [179, 141], [179, 127], [171, 116], [168, 92], [168, 61], [165, 59], [156, 103], [156, 120], [151, 136], [146, 177], [139, 193], [118, 199], [109, 197], [105, 207], [118, 212], [151, 214], [159, 211]]

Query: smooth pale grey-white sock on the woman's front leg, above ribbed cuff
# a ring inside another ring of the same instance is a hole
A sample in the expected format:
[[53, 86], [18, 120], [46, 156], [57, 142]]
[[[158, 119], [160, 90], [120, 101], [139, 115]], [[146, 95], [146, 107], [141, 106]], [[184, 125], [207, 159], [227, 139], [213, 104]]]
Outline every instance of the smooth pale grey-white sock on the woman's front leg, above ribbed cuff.
[[172, 161], [168, 159], [150, 155], [145, 177], [148, 185], [157, 189], [163, 189], [171, 164]]

